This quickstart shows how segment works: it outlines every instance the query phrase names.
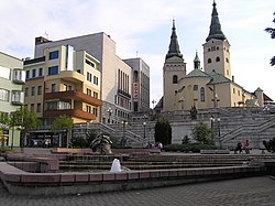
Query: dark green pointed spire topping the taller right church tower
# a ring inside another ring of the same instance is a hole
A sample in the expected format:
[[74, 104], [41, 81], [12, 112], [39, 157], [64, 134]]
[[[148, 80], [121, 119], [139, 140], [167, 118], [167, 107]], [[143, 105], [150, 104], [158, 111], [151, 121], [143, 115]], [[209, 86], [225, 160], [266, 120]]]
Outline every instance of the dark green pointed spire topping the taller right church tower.
[[226, 35], [221, 31], [219, 14], [218, 14], [215, 1], [212, 6], [213, 6], [213, 9], [212, 9], [212, 14], [211, 14], [212, 18], [211, 18], [210, 31], [206, 41], [208, 42], [209, 40], [212, 40], [212, 39], [227, 40]]

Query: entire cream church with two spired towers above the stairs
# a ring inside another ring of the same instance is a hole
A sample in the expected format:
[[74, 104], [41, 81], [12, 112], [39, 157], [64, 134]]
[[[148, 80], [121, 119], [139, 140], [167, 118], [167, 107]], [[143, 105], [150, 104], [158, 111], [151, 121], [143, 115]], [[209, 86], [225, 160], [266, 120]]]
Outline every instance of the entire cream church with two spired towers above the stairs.
[[194, 69], [187, 74], [173, 21], [169, 50], [163, 67], [163, 111], [190, 110], [193, 106], [197, 109], [263, 106], [261, 88], [250, 93], [234, 82], [230, 44], [221, 30], [216, 2], [212, 4], [209, 35], [202, 47], [204, 69], [196, 53]]

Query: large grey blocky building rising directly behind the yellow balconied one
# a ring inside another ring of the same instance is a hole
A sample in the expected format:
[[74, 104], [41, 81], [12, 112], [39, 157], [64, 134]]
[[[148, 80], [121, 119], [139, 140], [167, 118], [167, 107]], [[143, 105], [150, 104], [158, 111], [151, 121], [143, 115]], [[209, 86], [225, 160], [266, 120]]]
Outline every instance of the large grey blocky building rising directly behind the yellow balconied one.
[[119, 123], [129, 119], [132, 106], [132, 68], [116, 54], [116, 42], [106, 33], [95, 33], [59, 41], [35, 39], [35, 57], [46, 47], [72, 45], [76, 51], [86, 51], [97, 58], [101, 72], [100, 96], [102, 107], [99, 121]]

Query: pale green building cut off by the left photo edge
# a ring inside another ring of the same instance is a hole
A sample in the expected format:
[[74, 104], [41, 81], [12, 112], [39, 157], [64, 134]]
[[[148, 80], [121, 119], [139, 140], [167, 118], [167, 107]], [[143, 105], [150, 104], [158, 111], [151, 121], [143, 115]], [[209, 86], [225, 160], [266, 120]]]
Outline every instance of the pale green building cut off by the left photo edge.
[[[24, 105], [23, 61], [0, 52], [0, 116], [10, 116]], [[0, 145], [19, 147], [20, 130], [0, 126]]]

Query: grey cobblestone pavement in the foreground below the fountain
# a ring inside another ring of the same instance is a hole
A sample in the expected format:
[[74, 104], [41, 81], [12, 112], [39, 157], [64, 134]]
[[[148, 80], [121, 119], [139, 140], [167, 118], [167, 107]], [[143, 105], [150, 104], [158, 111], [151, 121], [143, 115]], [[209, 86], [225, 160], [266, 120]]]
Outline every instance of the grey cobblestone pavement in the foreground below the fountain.
[[2, 206], [274, 206], [275, 180], [270, 176], [127, 192], [36, 197], [10, 195], [0, 185]]

